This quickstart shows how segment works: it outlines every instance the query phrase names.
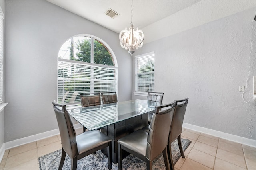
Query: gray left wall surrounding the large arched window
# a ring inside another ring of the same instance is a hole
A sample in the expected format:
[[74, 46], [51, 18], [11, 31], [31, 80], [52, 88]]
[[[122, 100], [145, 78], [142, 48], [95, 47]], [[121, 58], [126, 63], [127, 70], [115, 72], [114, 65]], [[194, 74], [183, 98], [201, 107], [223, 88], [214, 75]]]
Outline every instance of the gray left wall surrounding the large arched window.
[[6, 102], [4, 142], [58, 129], [52, 109], [57, 98], [57, 55], [78, 34], [105, 41], [118, 62], [118, 100], [132, 98], [132, 58], [118, 33], [47, 1], [6, 1]]

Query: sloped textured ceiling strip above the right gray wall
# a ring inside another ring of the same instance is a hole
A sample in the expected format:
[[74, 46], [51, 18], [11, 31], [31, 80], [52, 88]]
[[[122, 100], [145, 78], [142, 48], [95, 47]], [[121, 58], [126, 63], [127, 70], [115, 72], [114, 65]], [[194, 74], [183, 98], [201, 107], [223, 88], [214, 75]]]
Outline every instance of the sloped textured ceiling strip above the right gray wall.
[[150, 35], [145, 36], [144, 43], [180, 33], [255, 6], [255, 0], [201, 0], [184, 10], [141, 28], [145, 35]]

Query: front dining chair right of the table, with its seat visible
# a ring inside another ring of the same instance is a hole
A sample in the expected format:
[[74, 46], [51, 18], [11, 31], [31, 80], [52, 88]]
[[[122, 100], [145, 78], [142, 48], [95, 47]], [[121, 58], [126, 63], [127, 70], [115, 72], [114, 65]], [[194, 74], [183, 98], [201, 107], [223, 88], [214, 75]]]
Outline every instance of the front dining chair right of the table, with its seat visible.
[[[168, 108], [162, 110], [165, 107]], [[148, 133], [140, 129], [118, 139], [118, 170], [122, 169], [123, 150], [144, 160], [147, 164], [147, 170], [152, 170], [153, 160], [163, 153], [166, 169], [170, 169], [167, 158], [167, 145], [175, 107], [176, 101], [156, 106]]]

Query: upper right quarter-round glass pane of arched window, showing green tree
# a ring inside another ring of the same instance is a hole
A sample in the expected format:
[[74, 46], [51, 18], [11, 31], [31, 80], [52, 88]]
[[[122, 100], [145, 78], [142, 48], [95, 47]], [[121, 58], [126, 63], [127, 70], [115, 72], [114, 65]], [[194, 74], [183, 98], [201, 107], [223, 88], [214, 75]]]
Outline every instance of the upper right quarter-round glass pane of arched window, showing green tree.
[[108, 49], [100, 41], [94, 39], [94, 63], [114, 66], [112, 56]]

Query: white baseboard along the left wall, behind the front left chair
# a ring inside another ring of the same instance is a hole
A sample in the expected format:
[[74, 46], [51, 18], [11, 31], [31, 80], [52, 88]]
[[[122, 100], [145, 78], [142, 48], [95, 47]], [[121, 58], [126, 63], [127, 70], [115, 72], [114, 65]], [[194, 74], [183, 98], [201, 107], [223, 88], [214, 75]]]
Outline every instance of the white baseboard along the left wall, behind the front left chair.
[[[82, 125], [80, 123], [74, 124], [74, 128], [75, 129], [82, 128]], [[54, 129], [52, 131], [47, 131], [47, 132], [39, 133], [39, 134], [36, 134], [36, 135], [16, 139], [14, 141], [6, 142], [6, 143], [4, 143], [5, 144], [5, 150], [10, 149], [10, 148], [14, 148], [14, 147], [18, 147], [20, 145], [24, 145], [24, 144], [27, 144], [27, 143], [30, 143], [30, 142], [45, 139], [45, 138], [48, 138], [48, 137], [51, 137], [51, 136], [54, 136], [54, 135], [58, 135], [58, 134], [60, 134], [59, 129]]]

